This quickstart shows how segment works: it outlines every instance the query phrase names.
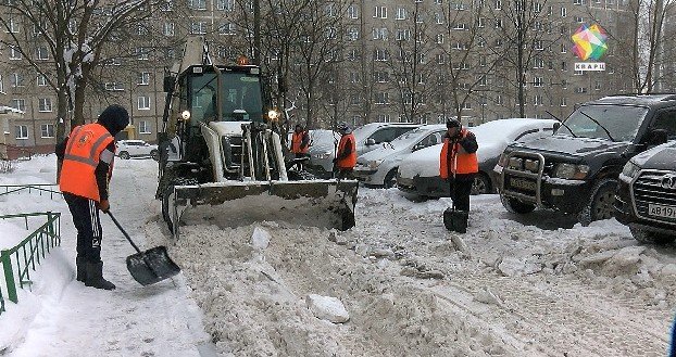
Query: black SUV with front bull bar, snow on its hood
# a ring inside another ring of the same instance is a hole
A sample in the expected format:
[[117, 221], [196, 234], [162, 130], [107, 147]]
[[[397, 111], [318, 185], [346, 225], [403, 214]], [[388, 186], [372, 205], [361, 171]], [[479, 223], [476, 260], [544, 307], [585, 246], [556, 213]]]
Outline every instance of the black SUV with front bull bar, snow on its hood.
[[627, 161], [676, 133], [676, 94], [611, 95], [576, 109], [552, 137], [510, 144], [496, 165], [504, 207], [611, 218]]

